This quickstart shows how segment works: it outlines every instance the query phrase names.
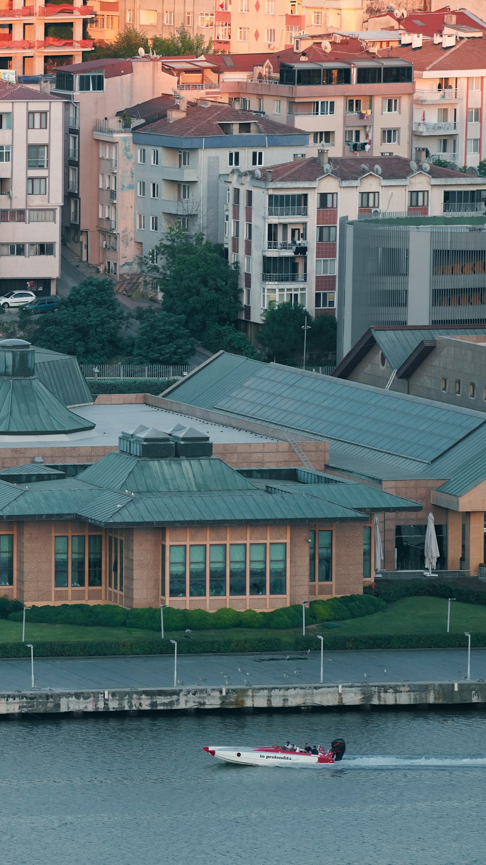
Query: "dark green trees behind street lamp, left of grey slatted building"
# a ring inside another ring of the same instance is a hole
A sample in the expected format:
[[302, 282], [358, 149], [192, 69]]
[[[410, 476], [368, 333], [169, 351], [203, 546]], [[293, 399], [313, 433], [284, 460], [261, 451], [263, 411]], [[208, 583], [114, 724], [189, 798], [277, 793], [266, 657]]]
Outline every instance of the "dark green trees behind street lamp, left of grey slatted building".
[[263, 313], [263, 326], [257, 339], [266, 349], [269, 361], [300, 365], [304, 361], [304, 324], [307, 330], [306, 354], [327, 354], [336, 349], [336, 319], [312, 318], [302, 304], [271, 306]]

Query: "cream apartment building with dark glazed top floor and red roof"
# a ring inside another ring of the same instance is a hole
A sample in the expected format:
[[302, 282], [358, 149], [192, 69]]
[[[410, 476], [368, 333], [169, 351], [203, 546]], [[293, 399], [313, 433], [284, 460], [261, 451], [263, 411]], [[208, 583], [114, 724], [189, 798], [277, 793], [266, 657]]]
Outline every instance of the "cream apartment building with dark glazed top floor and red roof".
[[312, 43], [305, 51], [255, 58], [253, 72], [242, 70], [238, 79], [231, 67], [224, 69], [221, 92], [230, 105], [266, 112], [311, 133], [314, 155], [325, 147], [331, 157], [359, 151], [410, 157], [412, 62], [378, 57], [357, 39], [336, 38], [323, 42], [324, 48]]

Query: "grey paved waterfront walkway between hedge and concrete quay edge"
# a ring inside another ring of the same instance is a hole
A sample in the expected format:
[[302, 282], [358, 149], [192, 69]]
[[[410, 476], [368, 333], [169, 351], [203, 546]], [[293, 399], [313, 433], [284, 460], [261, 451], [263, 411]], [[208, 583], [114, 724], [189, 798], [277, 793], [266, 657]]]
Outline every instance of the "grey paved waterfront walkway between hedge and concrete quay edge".
[[[319, 682], [319, 652], [262, 655], [179, 655], [181, 685], [300, 685]], [[473, 681], [486, 680], [486, 650], [471, 651]], [[467, 649], [335, 651], [324, 653], [324, 682], [462, 682]], [[35, 660], [39, 689], [169, 688], [174, 656]], [[30, 689], [30, 660], [0, 660], [0, 691]]]

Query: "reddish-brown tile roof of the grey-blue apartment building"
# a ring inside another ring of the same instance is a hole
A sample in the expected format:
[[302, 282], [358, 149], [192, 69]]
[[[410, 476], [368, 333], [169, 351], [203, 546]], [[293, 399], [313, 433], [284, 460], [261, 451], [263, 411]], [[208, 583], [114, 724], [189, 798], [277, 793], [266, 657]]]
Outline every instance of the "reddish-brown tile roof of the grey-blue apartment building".
[[173, 120], [157, 120], [156, 123], [145, 126], [141, 132], [155, 135], [174, 135], [177, 138], [204, 137], [224, 135], [221, 124], [224, 123], [255, 123], [262, 135], [306, 135], [302, 129], [277, 123], [249, 111], [240, 111], [224, 103], [204, 106], [188, 106], [186, 117]]

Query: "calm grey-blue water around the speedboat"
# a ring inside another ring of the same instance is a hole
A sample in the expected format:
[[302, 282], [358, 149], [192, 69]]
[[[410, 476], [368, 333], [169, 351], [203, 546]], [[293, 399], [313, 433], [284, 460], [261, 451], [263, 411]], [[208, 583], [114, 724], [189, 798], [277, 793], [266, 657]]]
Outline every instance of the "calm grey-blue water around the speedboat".
[[[483, 865], [485, 713], [3, 721], [2, 865]], [[201, 750], [287, 738], [331, 767]]]

